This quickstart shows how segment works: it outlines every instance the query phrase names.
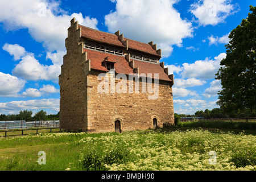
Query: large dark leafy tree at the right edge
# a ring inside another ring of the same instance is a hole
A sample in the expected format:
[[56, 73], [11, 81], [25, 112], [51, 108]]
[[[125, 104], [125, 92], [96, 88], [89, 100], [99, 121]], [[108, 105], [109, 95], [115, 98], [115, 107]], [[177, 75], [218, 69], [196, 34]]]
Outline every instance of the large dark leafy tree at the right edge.
[[250, 11], [230, 32], [226, 58], [216, 74], [222, 85], [217, 104], [224, 113], [256, 109], [256, 7], [250, 6]]

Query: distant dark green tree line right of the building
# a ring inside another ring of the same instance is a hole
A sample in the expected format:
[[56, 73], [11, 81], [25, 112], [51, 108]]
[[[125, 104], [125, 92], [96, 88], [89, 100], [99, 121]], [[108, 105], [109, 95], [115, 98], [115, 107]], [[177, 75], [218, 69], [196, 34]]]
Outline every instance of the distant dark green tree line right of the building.
[[225, 113], [220, 108], [214, 108], [212, 110], [205, 109], [196, 111], [195, 114], [177, 114], [179, 117], [204, 117], [204, 118], [245, 118], [245, 117], [256, 117], [256, 111], [244, 111], [242, 113], [229, 112]]

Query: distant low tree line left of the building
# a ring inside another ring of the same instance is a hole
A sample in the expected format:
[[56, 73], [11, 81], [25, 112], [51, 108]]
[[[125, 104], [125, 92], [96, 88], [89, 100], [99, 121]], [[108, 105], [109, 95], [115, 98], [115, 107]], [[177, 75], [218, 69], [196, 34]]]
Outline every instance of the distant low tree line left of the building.
[[40, 110], [32, 117], [33, 112], [28, 110], [20, 110], [19, 114], [0, 114], [0, 121], [49, 121], [49, 120], [59, 120], [60, 112], [57, 114], [48, 114], [44, 110]]

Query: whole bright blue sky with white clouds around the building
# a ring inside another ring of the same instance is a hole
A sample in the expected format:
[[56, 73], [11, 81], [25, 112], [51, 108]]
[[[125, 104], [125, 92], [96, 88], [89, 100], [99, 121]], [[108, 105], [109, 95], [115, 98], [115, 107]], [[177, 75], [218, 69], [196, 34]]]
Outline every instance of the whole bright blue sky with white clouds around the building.
[[162, 49], [174, 73], [175, 113], [218, 107], [214, 75], [228, 34], [255, 0], [105, 0], [0, 2], [0, 114], [59, 111], [60, 65], [70, 20]]

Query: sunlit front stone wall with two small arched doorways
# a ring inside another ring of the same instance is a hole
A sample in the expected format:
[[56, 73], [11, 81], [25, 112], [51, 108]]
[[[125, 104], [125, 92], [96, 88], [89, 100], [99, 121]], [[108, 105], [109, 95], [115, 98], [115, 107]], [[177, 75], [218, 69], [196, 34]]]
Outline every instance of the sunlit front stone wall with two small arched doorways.
[[[121, 130], [140, 130], [153, 128], [153, 118], [158, 121], [158, 127], [165, 123], [174, 124], [174, 107], [170, 82], [159, 81], [159, 96], [149, 100], [148, 92], [142, 93], [142, 82], [139, 82], [139, 93], [99, 93], [98, 80], [100, 72], [91, 71], [88, 75], [88, 131], [114, 131], [114, 121], [121, 121]], [[127, 77], [128, 78], [128, 77]], [[110, 79], [110, 76], [109, 76]], [[103, 80], [103, 79], [102, 79]], [[115, 86], [119, 80], [115, 80]], [[127, 85], [129, 80], [127, 79]], [[152, 84], [154, 88], [154, 83]], [[135, 90], [135, 82], [133, 81]]]

